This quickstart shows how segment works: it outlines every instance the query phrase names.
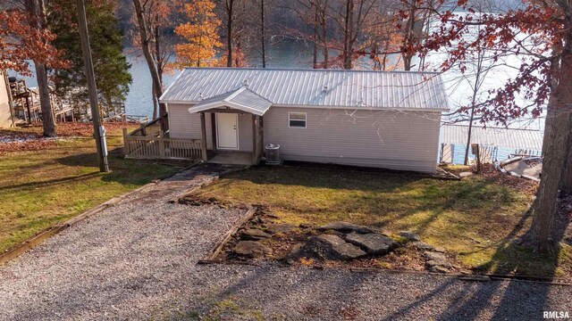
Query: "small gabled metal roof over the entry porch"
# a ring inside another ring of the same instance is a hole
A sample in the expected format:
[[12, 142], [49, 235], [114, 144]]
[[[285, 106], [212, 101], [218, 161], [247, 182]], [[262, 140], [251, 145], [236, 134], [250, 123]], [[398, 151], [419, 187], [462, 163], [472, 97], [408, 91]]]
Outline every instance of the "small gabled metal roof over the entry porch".
[[253, 93], [246, 86], [241, 86], [239, 89], [201, 101], [190, 107], [189, 112], [207, 111], [225, 106], [262, 116], [272, 103]]

